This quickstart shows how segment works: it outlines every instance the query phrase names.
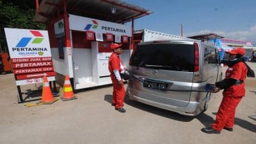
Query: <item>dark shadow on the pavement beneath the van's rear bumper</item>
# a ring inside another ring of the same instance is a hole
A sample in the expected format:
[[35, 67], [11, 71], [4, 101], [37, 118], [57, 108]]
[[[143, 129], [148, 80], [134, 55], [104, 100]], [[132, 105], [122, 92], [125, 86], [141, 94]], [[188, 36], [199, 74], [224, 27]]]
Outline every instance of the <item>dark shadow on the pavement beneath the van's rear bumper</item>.
[[182, 116], [180, 114], [177, 114], [173, 111], [168, 111], [165, 109], [159, 109], [157, 107], [153, 107], [150, 105], [145, 105], [141, 102], [136, 102], [134, 100], [129, 100], [129, 98], [125, 98], [125, 104], [130, 105], [131, 107], [135, 107], [136, 109], [141, 109], [143, 111], [147, 111], [150, 112], [152, 114], [156, 114], [158, 116], [163, 116], [165, 118], [171, 118], [173, 120], [179, 120], [182, 122], [189, 122], [191, 120], [193, 120], [193, 118], [195, 117], [191, 117], [191, 116]]

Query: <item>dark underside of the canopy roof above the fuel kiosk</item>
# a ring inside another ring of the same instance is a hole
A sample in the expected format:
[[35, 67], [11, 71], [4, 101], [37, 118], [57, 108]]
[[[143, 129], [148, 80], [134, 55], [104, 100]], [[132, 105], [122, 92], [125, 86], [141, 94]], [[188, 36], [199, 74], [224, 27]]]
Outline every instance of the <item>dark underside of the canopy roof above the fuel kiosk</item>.
[[[152, 12], [139, 6], [120, 0], [65, 0], [67, 13], [90, 17], [103, 21], [111, 21], [118, 24], [138, 19]], [[113, 13], [111, 8], [115, 9]], [[48, 23], [56, 12], [63, 12], [63, 0], [42, 0], [35, 14], [34, 21]]]

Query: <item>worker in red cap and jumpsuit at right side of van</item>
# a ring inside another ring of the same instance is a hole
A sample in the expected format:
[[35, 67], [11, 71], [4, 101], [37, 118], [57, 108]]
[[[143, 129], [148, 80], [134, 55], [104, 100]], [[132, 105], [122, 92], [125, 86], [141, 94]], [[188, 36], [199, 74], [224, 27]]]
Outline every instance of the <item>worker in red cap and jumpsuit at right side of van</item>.
[[217, 93], [221, 89], [223, 91], [223, 100], [218, 108], [216, 120], [211, 127], [202, 128], [202, 132], [207, 134], [220, 134], [222, 129], [226, 129], [230, 132], [233, 131], [234, 126], [234, 114], [239, 105], [239, 102], [245, 96], [246, 89], [244, 80], [248, 69], [243, 55], [245, 51], [243, 48], [234, 48], [230, 53], [229, 60], [225, 63], [228, 68], [225, 73], [225, 79], [221, 82], [216, 82], [216, 88], [214, 93]]

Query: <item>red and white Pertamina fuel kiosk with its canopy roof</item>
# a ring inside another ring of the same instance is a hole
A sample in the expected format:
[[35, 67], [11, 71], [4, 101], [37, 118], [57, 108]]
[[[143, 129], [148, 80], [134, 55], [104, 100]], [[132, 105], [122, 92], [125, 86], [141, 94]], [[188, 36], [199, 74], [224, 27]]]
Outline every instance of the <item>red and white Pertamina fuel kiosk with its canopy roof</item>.
[[[74, 90], [111, 84], [110, 45], [122, 44], [125, 66], [133, 50], [134, 20], [150, 11], [119, 0], [38, 0], [34, 21], [46, 24], [56, 82]], [[131, 26], [129, 26], [131, 22]]]

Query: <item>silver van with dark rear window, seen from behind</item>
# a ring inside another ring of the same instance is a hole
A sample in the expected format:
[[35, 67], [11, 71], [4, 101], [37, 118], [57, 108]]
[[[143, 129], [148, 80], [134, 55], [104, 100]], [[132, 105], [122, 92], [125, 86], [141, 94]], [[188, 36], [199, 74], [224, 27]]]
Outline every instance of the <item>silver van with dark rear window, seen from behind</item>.
[[198, 40], [140, 43], [131, 55], [129, 73], [129, 99], [186, 116], [207, 110], [207, 84], [222, 79], [218, 49]]

